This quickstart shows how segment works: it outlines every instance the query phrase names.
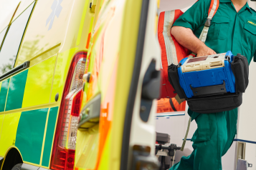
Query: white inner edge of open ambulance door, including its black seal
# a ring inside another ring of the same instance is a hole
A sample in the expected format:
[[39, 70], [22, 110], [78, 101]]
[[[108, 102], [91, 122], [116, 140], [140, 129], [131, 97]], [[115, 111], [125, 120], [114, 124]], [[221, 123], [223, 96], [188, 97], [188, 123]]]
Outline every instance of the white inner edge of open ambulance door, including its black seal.
[[125, 109], [120, 169], [158, 169], [155, 113], [161, 81], [161, 53], [156, 38], [159, 2], [142, 0], [133, 3], [141, 3], [141, 14]]

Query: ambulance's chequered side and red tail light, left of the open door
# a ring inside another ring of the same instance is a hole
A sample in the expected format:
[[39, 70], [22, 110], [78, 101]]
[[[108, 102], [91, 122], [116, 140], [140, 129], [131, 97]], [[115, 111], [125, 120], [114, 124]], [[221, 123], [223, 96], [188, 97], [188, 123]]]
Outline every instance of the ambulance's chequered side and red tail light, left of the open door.
[[96, 0], [0, 2], [0, 169], [74, 168]]

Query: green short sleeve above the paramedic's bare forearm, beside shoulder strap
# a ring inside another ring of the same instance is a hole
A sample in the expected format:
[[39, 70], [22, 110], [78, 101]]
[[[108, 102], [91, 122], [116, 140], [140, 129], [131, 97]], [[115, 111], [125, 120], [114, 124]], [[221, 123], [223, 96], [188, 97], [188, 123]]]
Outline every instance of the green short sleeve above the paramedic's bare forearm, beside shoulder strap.
[[211, 0], [197, 1], [174, 22], [173, 26], [183, 26], [194, 31], [207, 19], [210, 4]]

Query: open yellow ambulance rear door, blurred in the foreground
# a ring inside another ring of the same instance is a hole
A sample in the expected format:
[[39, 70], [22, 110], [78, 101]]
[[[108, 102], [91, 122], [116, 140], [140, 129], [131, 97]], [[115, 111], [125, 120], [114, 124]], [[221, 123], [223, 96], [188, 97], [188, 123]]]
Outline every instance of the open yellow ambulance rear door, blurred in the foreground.
[[104, 1], [83, 75], [75, 170], [158, 169], [157, 8], [157, 1]]

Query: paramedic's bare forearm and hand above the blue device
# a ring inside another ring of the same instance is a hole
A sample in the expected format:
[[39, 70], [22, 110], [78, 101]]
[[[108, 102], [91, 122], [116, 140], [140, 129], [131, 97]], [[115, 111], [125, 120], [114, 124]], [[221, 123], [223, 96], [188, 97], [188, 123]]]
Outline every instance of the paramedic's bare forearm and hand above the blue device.
[[183, 26], [174, 26], [171, 29], [171, 34], [179, 44], [186, 47], [186, 49], [193, 51], [197, 56], [216, 54], [215, 51], [209, 49], [209, 47], [207, 47], [202, 41], [197, 39], [191, 29]]

